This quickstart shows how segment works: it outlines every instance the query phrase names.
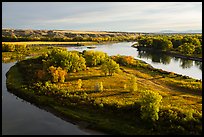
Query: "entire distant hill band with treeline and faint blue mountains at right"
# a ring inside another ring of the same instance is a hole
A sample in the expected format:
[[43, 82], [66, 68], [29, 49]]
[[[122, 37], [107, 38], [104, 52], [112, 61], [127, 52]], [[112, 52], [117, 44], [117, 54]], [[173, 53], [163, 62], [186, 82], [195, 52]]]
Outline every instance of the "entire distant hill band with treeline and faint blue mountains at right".
[[32, 30], [2, 29], [2, 41], [134, 41], [140, 35], [202, 33], [201, 30], [173, 31], [163, 30], [155, 33], [116, 32], [116, 31], [80, 31], [80, 30]]

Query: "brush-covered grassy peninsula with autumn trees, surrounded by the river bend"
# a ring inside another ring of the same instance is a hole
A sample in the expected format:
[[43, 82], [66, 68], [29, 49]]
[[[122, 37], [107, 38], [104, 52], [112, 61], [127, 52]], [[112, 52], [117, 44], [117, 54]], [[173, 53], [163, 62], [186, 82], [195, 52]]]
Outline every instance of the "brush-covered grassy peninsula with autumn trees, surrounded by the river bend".
[[[7, 86], [111, 134], [201, 134], [201, 81], [154, 69], [130, 56], [87, 53], [54, 49], [20, 61], [8, 72]], [[104, 75], [101, 68], [108, 66], [103, 57], [120, 71]], [[17, 86], [16, 74], [21, 78]]]

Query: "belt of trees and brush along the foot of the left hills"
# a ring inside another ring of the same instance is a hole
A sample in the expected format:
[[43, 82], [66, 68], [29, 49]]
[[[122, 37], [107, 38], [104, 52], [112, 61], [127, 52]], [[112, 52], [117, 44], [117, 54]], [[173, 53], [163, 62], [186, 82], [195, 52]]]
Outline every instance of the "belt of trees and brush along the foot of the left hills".
[[[7, 32], [5, 32], [7, 31]], [[77, 32], [71, 31], [52, 31], [42, 32], [40, 30], [30, 31], [23, 30], [24, 32], [18, 32], [15, 30], [2, 30], [2, 41], [55, 41], [55, 42], [77, 42], [77, 41], [134, 41], [137, 39], [139, 33], [128, 32]], [[36, 35], [37, 33], [37, 35]]]

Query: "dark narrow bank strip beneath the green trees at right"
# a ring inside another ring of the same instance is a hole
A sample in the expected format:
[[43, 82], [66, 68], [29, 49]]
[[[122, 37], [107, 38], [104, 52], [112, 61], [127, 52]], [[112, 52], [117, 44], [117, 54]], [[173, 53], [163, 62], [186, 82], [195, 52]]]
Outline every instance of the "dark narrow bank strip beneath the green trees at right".
[[188, 60], [194, 60], [194, 61], [202, 62], [202, 58], [200, 58], [200, 57], [193, 57], [193, 56], [189, 56], [189, 55], [183, 55], [183, 54], [178, 53], [176, 51], [159, 51], [159, 50], [155, 50], [155, 49], [152, 49], [152, 48], [147, 48], [147, 47], [144, 47], [144, 46], [137, 46], [137, 45], [132, 45], [132, 47], [137, 48], [138, 51], [150, 51], [150, 52], [164, 53], [164, 54], [174, 56], [174, 57], [178, 57], [178, 58], [182, 58], [182, 59], [188, 59]]

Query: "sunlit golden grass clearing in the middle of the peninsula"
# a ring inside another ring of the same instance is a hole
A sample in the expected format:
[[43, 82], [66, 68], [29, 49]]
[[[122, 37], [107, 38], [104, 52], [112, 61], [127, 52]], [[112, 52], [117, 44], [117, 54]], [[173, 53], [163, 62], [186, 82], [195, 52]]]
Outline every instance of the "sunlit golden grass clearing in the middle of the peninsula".
[[[199, 113], [202, 112], [202, 96], [187, 93], [180, 88], [171, 88], [162, 82], [165, 78], [159, 76], [153, 78], [135, 69], [126, 69], [124, 67], [123, 69], [125, 72], [106, 77], [103, 76], [101, 70], [97, 67], [71, 73], [67, 77], [67, 82], [59, 86], [69, 89], [69, 91], [87, 92], [88, 96], [94, 98], [97, 103], [117, 104], [118, 106], [134, 104], [140, 98], [139, 91], [148, 89], [162, 95], [162, 107], [176, 107], [183, 111], [194, 110]], [[128, 89], [132, 74], [137, 77], [138, 91], [135, 92]], [[77, 89], [78, 79], [82, 79], [82, 89]], [[104, 91], [89, 93], [89, 91], [95, 90], [94, 87], [98, 82], [103, 82]], [[124, 89], [124, 84], [127, 84], [127, 89]]]

